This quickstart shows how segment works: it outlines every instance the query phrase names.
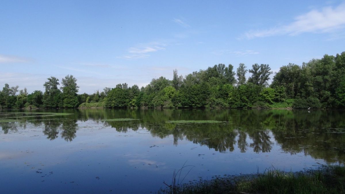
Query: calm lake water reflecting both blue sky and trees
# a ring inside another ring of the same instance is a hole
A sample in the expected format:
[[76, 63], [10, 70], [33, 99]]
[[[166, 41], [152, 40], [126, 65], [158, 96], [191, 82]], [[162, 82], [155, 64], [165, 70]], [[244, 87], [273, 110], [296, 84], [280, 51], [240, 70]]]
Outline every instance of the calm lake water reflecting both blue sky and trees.
[[[272, 165], [300, 171], [345, 161], [344, 111], [51, 109], [14, 113], [21, 111], [0, 112], [1, 193], [157, 192], [186, 161], [195, 166], [186, 183], [214, 175], [263, 172]], [[32, 114], [37, 112], [42, 114]], [[138, 120], [102, 121], [112, 118]], [[168, 120], [224, 122], [173, 124]]]

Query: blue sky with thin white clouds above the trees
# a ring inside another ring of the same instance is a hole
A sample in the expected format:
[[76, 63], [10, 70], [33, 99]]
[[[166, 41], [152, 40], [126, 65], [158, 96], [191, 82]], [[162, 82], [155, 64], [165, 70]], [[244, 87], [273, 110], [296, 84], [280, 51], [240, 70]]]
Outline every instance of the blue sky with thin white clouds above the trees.
[[[345, 51], [345, 1], [0, 2], [0, 87], [79, 93], [187, 75], [219, 63], [301, 65]], [[248, 74], [249, 76], [249, 74]]]

